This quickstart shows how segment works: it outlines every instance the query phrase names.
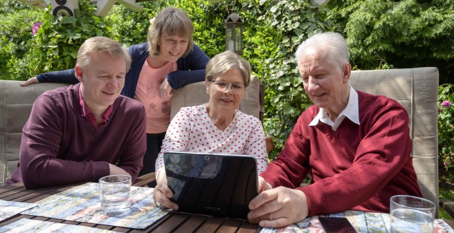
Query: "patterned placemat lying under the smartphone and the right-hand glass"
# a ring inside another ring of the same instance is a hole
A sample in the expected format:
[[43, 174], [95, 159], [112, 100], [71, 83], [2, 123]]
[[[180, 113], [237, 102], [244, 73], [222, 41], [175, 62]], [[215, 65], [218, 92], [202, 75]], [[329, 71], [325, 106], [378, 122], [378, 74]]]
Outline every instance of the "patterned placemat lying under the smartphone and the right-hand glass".
[[[390, 229], [390, 215], [373, 212], [363, 212], [356, 210], [347, 210], [338, 214], [327, 214], [329, 217], [345, 217], [352, 223], [356, 232], [376, 232], [388, 233]], [[383, 225], [385, 227], [383, 227]], [[449, 227], [441, 219], [435, 219], [433, 232], [438, 233], [454, 233], [454, 230]], [[311, 216], [302, 221], [282, 228], [263, 228], [261, 233], [324, 233], [318, 216]]]

